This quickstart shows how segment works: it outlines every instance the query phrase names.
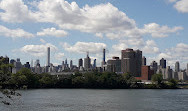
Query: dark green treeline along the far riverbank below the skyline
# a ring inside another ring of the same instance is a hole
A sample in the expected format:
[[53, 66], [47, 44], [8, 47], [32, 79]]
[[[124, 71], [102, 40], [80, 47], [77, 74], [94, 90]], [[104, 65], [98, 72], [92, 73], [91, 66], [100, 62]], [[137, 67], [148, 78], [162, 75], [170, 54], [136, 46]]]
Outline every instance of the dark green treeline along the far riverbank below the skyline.
[[34, 74], [23, 68], [16, 74], [10, 73], [9, 64], [0, 61], [0, 87], [2, 88], [177, 88], [177, 81], [163, 81], [161, 74], [152, 77], [153, 84], [143, 84], [131, 74], [88, 72], [74, 75]]

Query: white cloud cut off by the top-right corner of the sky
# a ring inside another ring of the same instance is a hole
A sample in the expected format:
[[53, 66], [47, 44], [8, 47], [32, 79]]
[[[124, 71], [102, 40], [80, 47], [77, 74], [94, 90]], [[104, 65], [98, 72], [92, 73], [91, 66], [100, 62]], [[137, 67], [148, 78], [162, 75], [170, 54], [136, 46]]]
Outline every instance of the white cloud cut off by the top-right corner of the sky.
[[174, 7], [182, 13], [188, 13], [188, 0], [179, 0]]

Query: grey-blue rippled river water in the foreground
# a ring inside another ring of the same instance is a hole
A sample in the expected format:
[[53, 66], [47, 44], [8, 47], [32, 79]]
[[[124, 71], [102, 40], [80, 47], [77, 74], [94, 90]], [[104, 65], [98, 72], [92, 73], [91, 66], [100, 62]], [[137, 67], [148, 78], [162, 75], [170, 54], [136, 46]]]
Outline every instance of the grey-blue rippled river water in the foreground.
[[188, 111], [188, 90], [37, 89], [0, 103], [0, 111]]

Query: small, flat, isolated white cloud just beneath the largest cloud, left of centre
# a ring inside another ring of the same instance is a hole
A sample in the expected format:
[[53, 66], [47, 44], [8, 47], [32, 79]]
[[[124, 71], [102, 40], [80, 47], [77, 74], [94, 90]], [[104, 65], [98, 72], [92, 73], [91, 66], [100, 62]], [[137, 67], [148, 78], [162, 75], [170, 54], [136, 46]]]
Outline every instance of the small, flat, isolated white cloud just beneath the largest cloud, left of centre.
[[67, 36], [68, 33], [64, 30], [56, 30], [56, 28], [47, 28], [43, 29], [41, 32], [37, 32], [38, 36], [54, 36], [54, 37], [64, 37]]

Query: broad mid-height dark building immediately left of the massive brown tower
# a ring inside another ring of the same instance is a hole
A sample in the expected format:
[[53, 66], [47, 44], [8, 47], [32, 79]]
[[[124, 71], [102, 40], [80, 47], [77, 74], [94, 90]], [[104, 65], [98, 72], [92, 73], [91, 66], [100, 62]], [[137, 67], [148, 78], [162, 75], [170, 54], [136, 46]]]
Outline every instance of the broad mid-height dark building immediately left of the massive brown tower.
[[107, 61], [108, 72], [121, 72], [121, 59], [119, 57], [112, 57]]

